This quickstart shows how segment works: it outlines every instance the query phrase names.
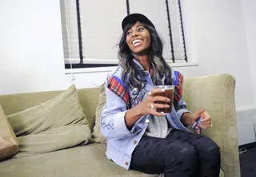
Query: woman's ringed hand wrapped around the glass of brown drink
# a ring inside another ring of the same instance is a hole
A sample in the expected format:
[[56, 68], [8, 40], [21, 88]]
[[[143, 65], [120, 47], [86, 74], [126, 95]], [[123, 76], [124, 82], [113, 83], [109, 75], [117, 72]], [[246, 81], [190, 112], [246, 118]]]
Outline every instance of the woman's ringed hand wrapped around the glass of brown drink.
[[171, 100], [165, 96], [158, 96], [157, 93], [165, 92], [165, 89], [154, 88], [146, 96], [144, 100], [134, 108], [137, 109], [138, 114], [143, 115], [154, 115], [164, 116], [164, 112], [157, 112], [156, 108], [169, 108], [168, 104], [158, 104], [158, 102], [170, 102]]

